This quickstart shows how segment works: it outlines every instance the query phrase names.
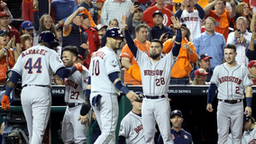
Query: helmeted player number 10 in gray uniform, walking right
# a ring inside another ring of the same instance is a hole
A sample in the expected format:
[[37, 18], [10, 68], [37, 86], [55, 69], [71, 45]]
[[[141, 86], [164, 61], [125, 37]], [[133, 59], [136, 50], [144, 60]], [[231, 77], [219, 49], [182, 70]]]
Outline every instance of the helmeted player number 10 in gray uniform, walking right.
[[[123, 35], [120, 29], [111, 28], [105, 32], [105, 36], [105, 47], [98, 49], [91, 58], [86, 90], [86, 97], [92, 104], [102, 132], [95, 144], [115, 143], [115, 129], [118, 119], [117, 96], [120, 90], [126, 94], [130, 101], [139, 99], [139, 96], [129, 91], [119, 78], [121, 64], [114, 51], [120, 48], [122, 42]], [[87, 105], [83, 105], [80, 114], [85, 115], [87, 110]]]

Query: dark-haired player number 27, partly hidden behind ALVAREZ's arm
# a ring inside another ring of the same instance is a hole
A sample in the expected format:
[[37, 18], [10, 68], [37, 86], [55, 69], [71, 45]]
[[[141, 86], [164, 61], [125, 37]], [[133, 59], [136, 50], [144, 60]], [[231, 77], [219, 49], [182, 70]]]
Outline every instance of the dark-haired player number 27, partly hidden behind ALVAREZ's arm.
[[[73, 67], [78, 63], [78, 48], [76, 46], [64, 47], [62, 61], [66, 67]], [[63, 117], [61, 130], [61, 138], [65, 144], [84, 144], [87, 142], [89, 126], [87, 120], [90, 119], [87, 118], [87, 115], [80, 116], [82, 103], [84, 103], [84, 92], [87, 88], [87, 78], [88, 70], [84, 66], [81, 72], [76, 71], [72, 76], [65, 78], [65, 103], [68, 106]]]

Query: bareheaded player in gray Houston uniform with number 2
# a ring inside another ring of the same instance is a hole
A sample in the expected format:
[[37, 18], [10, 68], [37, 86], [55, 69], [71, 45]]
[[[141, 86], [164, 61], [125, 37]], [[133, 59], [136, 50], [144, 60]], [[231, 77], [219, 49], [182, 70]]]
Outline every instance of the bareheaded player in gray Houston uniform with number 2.
[[224, 46], [226, 62], [215, 67], [207, 94], [206, 110], [213, 112], [211, 103], [215, 97], [215, 90], [218, 89], [217, 131], [219, 144], [227, 142], [229, 129], [232, 132], [233, 144], [241, 144], [244, 89], [247, 105], [245, 112], [248, 112], [246, 116], [251, 115], [252, 81], [247, 67], [235, 61], [236, 55], [236, 48], [233, 44]]

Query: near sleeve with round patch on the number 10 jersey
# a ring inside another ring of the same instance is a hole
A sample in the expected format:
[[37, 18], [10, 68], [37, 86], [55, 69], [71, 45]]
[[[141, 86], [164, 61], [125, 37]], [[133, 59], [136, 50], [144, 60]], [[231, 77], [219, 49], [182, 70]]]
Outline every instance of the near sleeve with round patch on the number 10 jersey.
[[105, 58], [105, 69], [106, 69], [106, 74], [111, 74], [113, 72], [120, 72], [120, 62], [117, 57], [114, 55], [108, 55]]

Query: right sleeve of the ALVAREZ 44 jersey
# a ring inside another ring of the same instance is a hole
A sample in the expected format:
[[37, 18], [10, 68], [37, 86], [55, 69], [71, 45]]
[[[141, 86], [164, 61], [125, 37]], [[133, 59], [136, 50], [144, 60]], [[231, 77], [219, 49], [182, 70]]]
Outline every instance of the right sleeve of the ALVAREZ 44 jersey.
[[54, 73], [56, 73], [60, 67], [65, 67], [57, 52], [54, 50], [50, 50], [49, 61], [50, 68]]

